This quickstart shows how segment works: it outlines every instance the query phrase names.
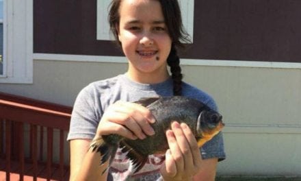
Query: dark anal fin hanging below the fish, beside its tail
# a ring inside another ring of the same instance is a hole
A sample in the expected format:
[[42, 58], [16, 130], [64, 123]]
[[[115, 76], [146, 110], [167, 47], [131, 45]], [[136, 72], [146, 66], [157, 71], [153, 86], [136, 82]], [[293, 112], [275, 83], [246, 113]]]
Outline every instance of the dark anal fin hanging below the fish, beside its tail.
[[121, 152], [127, 153], [127, 158], [129, 158], [134, 166], [134, 173], [140, 171], [142, 167], [145, 165], [146, 161], [148, 160], [148, 155], [141, 154], [137, 150], [131, 148], [127, 143], [124, 141], [120, 142]]

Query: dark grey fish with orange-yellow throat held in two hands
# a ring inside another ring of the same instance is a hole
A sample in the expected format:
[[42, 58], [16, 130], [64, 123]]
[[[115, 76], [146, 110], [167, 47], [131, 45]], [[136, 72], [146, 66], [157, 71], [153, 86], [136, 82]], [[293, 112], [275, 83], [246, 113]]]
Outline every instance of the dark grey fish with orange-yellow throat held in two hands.
[[149, 155], [165, 153], [169, 149], [166, 131], [170, 130], [173, 121], [186, 123], [189, 126], [198, 141], [198, 147], [202, 147], [224, 128], [220, 113], [201, 101], [189, 97], [146, 97], [135, 103], [152, 112], [156, 121], [150, 125], [155, 130], [155, 134], [146, 136], [142, 140], [132, 140], [118, 134], [103, 135], [94, 139], [90, 148], [92, 152], [101, 154], [101, 165], [109, 160], [107, 169], [112, 164], [118, 147], [131, 160], [134, 173], [142, 169]]

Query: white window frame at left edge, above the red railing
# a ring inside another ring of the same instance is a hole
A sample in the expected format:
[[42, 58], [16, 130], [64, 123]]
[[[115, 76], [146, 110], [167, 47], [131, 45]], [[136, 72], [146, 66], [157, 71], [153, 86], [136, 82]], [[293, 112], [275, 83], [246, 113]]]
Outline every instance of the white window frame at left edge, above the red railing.
[[33, 0], [3, 0], [3, 75], [0, 83], [33, 83]]

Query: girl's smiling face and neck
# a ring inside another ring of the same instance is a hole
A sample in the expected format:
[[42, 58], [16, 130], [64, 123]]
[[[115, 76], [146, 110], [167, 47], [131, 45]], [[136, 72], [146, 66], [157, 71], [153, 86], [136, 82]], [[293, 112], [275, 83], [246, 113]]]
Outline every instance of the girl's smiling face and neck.
[[119, 11], [118, 39], [129, 60], [129, 76], [142, 83], [166, 80], [172, 40], [159, 1], [123, 0]]

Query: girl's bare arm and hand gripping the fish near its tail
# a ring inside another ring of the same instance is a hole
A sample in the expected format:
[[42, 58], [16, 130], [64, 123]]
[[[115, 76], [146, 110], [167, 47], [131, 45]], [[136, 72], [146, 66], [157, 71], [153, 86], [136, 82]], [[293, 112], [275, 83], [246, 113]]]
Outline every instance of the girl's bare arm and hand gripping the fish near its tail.
[[[150, 123], [155, 123], [151, 112], [139, 105], [117, 101], [107, 108], [96, 130], [95, 137], [119, 134], [131, 139], [143, 139], [155, 134]], [[91, 152], [89, 139], [70, 141], [70, 180], [107, 180], [107, 163], [100, 165], [99, 152]], [[103, 173], [103, 175], [102, 175]]]

